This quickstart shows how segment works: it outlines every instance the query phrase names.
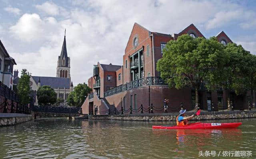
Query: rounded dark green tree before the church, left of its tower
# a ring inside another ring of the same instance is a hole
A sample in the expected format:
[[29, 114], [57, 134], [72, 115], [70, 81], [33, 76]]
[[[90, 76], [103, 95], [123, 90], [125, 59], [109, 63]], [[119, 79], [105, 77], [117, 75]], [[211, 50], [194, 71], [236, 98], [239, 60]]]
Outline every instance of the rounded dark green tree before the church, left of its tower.
[[41, 86], [36, 92], [38, 104], [40, 105], [54, 105], [56, 103], [57, 94], [50, 86]]

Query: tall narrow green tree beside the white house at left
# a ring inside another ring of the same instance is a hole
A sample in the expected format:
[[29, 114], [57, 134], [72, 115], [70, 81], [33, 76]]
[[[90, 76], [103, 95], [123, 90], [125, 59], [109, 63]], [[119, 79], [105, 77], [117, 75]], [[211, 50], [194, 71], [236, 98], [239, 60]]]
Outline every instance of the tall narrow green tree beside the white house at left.
[[21, 77], [17, 86], [18, 96], [20, 98], [20, 102], [22, 103], [22, 105], [26, 105], [30, 102], [30, 77], [31, 75], [28, 73], [28, 71], [26, 69], [22, 69]]

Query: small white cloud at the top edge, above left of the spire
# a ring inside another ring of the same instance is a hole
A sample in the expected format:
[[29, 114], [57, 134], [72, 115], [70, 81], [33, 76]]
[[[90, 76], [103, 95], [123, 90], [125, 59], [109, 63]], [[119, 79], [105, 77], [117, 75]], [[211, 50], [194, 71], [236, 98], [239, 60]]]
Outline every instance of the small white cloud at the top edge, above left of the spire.
[[66, 14], [66, 10], [63, 7], [58, 6], [53, 2], [44, 2], [41, 5], [36, 5], [36, 8], [51, 16]]

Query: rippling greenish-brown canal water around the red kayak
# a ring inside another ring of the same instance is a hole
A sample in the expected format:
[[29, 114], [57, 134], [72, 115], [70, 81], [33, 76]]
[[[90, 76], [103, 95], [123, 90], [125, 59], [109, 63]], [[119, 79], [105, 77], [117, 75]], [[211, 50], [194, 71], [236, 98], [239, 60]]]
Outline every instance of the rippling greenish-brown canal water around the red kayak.
[[152, 130], [152, 125], [175, 123], [37, 119], [0, 128], [0, 159], [256, 158], [256, 119], [203, 122], [243, 124], [221, 130]]

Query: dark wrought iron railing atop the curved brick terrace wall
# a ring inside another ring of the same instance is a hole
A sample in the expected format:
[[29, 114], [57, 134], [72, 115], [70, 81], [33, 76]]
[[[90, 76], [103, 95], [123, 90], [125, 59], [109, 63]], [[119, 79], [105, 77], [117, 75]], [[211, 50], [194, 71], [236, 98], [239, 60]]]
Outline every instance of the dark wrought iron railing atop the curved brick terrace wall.
[[161, 77], [145, 77], [142, 79], [133, 80], [126, 84], [122, 84], [116, 88], [112, 88], [104, 92], [104, 97], [112, 96], [114, 94], [124, 92], [126, 90], [130, 90], [132, 88], [137, 88], [140, 86], [149, 86], [149, 85], [166, 85], [166, 84], [164, 83], [164, 80], [161, 79]]

